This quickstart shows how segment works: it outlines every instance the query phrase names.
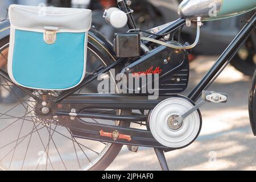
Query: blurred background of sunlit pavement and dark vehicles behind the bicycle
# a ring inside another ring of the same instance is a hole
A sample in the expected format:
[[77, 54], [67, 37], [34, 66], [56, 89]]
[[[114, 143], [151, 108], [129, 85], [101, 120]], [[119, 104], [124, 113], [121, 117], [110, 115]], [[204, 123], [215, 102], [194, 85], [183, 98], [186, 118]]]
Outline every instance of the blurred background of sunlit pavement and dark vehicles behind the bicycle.
[[[180, 0], [132, 0], [134, 18], [142, 30], [179, 18], [177, 7]], [[93, 26], [111, 42], [115, 32], [125, 32], [127, 27], [115, 29], [102, 18], [105, 9], [115, 7], [116, 0], [1, 0], [0, 19], [5, 18], [6, 9], [11, 3], [22, 5], [77, 7], [93, 10]], [[214, 61], [241, 30], [244, 22], [252, 13], [234, 18], [205, 22], [201, 29], [199, 44], [191, 56], [191, 75], [189, 90], [200, 81]], [[184, 28], [181, 42], [192, 43], [195, 27]], [[250, 129], [247, 111], [247, 97], [250, 80], [256, 68], [255, 30], [237, 53], [230, 65], [209, 90], [228, 93], [226, 105], [207, 105], [202, 109], [203, 128], [199, 139], [191, 146], [167, 154], [171, 169], [256, 169], [256, 141]], [[129, 163], [124, 163], [129, 161]], [[109, 170], [158, 170], [160, 166], [149, 148], [139, 148], [133, 154], [123, 147], [121, 155], [115, 159]]]

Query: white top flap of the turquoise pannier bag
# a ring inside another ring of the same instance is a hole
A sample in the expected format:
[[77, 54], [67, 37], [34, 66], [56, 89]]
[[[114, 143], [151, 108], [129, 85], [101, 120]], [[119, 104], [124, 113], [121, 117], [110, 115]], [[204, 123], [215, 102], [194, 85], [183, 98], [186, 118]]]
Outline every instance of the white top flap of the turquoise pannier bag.
[[57, 27], [59, 32], [85, 32], [92, 23], [92, 11], [60, 7], [11, 5], [11, 26], [20, 30], [43, 32]]

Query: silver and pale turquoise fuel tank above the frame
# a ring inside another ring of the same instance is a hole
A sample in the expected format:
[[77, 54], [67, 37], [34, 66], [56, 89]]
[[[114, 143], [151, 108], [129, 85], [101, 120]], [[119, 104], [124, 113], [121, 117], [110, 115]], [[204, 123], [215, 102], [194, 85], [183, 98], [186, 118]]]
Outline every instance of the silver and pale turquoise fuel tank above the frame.
[[184, 0], [178, 14], [182, 18], [217, 20], [247, 13], [255, 7], [256, 0]]

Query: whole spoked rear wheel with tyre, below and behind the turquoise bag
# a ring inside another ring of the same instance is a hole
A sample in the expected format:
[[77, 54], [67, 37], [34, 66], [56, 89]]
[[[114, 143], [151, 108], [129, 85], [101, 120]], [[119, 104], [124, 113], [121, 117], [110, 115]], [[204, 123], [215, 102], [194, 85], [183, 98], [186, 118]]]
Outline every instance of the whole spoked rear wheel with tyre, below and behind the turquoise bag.
[[[100, 68], [113, 63], [113, 59], [104, 56], [104, 54], [109, 54], [107, 49], [95, 40], [93, 41], [92, 44], [89, 38], [88, 65], [93, 64]], [[0, 60], [6, 60], [5, 52], [9, 48], [9, 39], [2, 39], [0, 45]], [[87, 71], [87, 74], [91, 75], [93, 72]], [[108, 75], [109, 79], [113, 79], [110, 73]], [[3, 101], [0, 102], [1, 169], [104, 170], [113, 162], [122, 148], [121, 144], [73, 137], [71, 130], [61, 126], [58, 118], [40, 117], [36, 111], [36, 101], [2, 76], [0, 76], [0, 91], [0, 100]], [[79, 92], [95, 93], [96, 91], [97, 80]], [[31, 90], [31, 92], [37, 97], [42, 95], [40, 90]], [[60, 93], [49, 92], [48, 94], [53, 98]], [[8, 102], [3, 104], [4, 101]], [[102, 113], [101, 110], [98, 112]], [[109, 112], [115, 112], [117, 115], [130, 114], [129, 110], [109, 110]], [[103, 119], [86, 119], [86, 122], [129, 126], [127, 123]]]

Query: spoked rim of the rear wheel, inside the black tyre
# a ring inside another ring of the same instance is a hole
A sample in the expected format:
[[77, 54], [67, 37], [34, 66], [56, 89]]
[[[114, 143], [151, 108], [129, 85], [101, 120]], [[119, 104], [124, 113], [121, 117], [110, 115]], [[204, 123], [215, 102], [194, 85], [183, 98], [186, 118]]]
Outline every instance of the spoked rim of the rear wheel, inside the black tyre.
[[[2, 47], [0, 52], [3, 52], [3, 49], [7, 47]], [[94, 63], [100, 61], [101, 65], [99, 66], [106, 66], [101, 57], [97, 56], [92, 49], [88, 48], [88, 52], [88, 64], [92, 65], [91, 61]], [[2, 53], [1, 56], [3, 56]], [[88, 75], [90, 74], [93, 74], [93, 72], [89, 71]], [[94, 82], [95, 85], [97, 83]], [[93, 83], [89, 86], [90, 88], [88, 89], [83, 88], [79, 90], [79, 93], [92, 93]], [[5, 105], [0, 103], [0, 106], [2, 105], [0, 109], [1, 169], [87, 170], [97, 164], [112, 145], [104, 142], [74, 138], [71, 131], [65, 126], [49, 124], [44, 120], [35, 122], [35, 120], [38, 121], [37, 116], [29, 115], [34, 108], [31, 109], [33, 106], [28, 96], [19, 97], [19, 93], [16, 91], [19, 89], [4, 78], [1, 78], [0, 88], [1, 100], [16, 101], [15, 103]], [[7, 98], [2, 90], [5, 90], [6, 93], [13, 93], [13, 97]], [[34, 93], [36, 95], [39, 91], [36, 90]], [[121, 113], [121, 110], [113, 111], [117, 114]], [[58, 122], [57, 119], [51, 119], [56, 123]], [[90, 119], [87, 122], [106, 123], [102, 119]], [[112, 121], [111, 123], [108, 122], [108, 124], [119, 125], [119, 122]]]

